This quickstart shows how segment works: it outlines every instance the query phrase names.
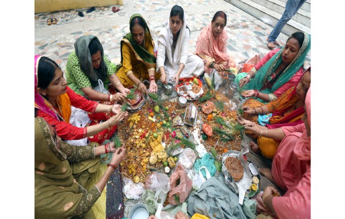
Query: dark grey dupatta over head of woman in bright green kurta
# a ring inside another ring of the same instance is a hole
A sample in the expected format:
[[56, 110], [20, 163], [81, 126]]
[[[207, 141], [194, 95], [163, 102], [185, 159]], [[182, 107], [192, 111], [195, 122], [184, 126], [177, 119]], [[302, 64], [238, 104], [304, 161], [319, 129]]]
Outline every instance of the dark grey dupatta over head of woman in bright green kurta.
[[[92, 67], [92, 59], [89, 50], [89, 44], [93, 39], [96, 39], [101, 52], [101, 64], [98, 69], [94, 69]], [[89, 77], [90, 82], [93, 86], [98, 85], [98, 79], [101, 79], [102, 81], [105, 81], [107, 79], [108, 68], [104, 62], [103, 47], [96, 36], [87, 35], [79, 37], [74, 43], [74, 49], [75, 54], [77, 55], [79, 60], [80, 69]]]

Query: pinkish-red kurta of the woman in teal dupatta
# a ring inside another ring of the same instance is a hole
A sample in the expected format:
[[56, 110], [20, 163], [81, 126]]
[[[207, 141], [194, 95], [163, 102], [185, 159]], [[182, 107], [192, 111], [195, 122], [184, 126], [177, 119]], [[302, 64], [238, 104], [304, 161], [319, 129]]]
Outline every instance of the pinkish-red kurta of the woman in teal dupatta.
[[[275, 49], [270, 51], [258, 64], [256, 64], [254, 67], [256, 70], [259, 70], [263, 65], [265, 65], [268, 60], [270, 60], [280, 49]], [[299, 68], [298, 71], [286, 82], [283, 84], [280, 88], [275, 90], [273, 93], [280, 97], [283, 93], [285, 93], [290, 87], [293, 87], [298, 83], [300, 78], [302, 77], [304, 73], [303, 67]]]

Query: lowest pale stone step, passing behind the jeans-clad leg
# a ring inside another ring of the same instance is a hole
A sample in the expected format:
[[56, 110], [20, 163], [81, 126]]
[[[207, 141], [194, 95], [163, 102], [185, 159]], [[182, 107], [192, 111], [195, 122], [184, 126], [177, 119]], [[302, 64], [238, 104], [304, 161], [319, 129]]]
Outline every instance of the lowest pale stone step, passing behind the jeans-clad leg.
[[[277, 13], [261, 4], [255, 3], [252, 0], [226, 0], [233, 4], [234, 6], [240, 8], [246, 13], [258, 18], [259, 20], [265, 22], [266, 24], [274, 27], [278, 20], [282, 17], [282, 14]], [[310, 34], [310, 27], [307, 27], [301, 23], [294, 20], [289, 20], [284, 26], [282, 32], [286, 35], [291, 35], [296, 31], [303, 31]]]

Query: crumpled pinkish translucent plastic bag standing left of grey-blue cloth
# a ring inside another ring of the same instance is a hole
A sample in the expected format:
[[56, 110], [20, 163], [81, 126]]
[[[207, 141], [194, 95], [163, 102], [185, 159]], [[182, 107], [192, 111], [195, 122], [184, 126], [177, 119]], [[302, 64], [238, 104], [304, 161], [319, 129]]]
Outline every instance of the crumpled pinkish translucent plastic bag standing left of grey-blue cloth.
[[193, 182], [179, 163], [170, 177], [169, 203], [178, 205], [188, 198]]

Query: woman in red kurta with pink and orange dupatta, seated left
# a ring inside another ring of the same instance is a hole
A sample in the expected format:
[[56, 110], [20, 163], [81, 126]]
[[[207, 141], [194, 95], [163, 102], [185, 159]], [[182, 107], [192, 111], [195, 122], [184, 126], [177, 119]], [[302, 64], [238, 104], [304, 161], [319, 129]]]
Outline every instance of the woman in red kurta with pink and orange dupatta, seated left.
[[[71, 125], [71, 106], [89, 112], [91, 124], [83, 128]], [[91, 142], [100, 144], [110, 139], [117, 124], [127, 115], [121, 112], [120, 105], [104, 105], [76, 94], [67, 86], [58, 64], [42, 56], [35, 56], [35, 108], [38, 117], [56, 126], [63, 140], [90, 137]]]

